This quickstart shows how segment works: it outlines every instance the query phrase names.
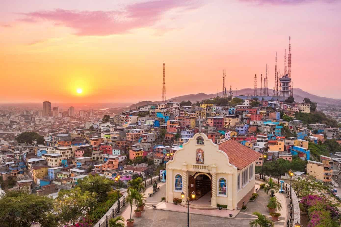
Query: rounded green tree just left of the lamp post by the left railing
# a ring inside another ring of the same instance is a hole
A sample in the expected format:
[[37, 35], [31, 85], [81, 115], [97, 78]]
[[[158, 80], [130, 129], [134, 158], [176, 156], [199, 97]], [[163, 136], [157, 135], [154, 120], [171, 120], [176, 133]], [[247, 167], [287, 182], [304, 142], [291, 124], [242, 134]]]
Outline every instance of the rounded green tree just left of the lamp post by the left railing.
[[97, 195], [97, 199], [99, 202], [104, 201], [107, 196], [107, 193], [113, 190], [113, 186], [115, 186], [115, 181], [112, 181], [106, 177], [101, 177], [98, 174], [92, 176], [91, 174], [83, 179], [77, 180], [79, 188], [83, 193], [95, 192]]

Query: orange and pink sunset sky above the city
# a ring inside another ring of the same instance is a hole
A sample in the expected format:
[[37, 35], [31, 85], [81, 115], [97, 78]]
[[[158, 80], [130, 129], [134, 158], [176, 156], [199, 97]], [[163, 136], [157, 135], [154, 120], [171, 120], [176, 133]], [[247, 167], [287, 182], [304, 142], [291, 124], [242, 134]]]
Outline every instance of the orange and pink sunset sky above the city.
[[[338, 0], [2, 0], [0, 103], [161, 100], [254, 87], [291, 36], [294, 88], [341, 98]], [[82, 92], [77, 93], [77, 89]]]

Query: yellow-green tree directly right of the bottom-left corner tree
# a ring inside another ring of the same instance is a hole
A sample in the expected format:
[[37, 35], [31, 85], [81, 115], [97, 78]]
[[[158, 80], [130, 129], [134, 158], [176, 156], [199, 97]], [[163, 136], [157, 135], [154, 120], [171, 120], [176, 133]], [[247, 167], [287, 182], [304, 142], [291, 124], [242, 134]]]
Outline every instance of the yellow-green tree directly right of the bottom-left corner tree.
[[[96, 187], [94, 185], [94, 187]], [[61, 190], [55, 202], [55, 212], [62, 223], [75, 222], [84, 212], [97, 204], [95, 192], [82, 192], [80, 188]]]

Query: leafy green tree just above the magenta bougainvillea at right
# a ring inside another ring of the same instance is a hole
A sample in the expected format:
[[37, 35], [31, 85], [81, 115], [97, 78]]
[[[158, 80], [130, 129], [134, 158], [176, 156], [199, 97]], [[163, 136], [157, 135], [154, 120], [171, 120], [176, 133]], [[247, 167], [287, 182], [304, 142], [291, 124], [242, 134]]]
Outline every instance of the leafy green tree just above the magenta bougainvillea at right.
[[298, 178], [292, 180], [292, 189], [297, 197], [303, 197], [313, 194], [321, 194], [322, 191], [328, 190], [328, 187], [322, 182], [316, 181], [314, 176], [306, 178]]

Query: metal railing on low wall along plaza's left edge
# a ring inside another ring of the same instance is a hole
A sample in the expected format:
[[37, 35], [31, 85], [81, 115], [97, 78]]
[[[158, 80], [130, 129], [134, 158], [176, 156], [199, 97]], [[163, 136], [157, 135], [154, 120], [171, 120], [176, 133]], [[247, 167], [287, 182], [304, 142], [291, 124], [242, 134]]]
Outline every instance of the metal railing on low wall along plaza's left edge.
[[[153, 184], [155, 181], [160, 180], [162, 177], [161, 175], [156, 175], [151, 178], [148, 178], [144, 181], [145, 187], [147, 187], [150, 184]], [[128, 196], [128, 193], [125, 192], [120, 197], [120, 210], [122, 211], [121, 207], [125, 206], [125, 197]], [[108, 222], [110, 219], [114, 218], [117, 214], [117, 201], [114, 203], [114, 205], [104, 214], [104, 216], [94, 225], [94, 227], [108, 227]]]

